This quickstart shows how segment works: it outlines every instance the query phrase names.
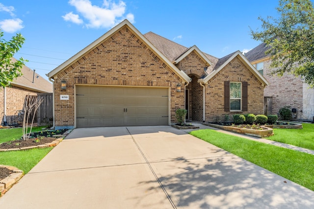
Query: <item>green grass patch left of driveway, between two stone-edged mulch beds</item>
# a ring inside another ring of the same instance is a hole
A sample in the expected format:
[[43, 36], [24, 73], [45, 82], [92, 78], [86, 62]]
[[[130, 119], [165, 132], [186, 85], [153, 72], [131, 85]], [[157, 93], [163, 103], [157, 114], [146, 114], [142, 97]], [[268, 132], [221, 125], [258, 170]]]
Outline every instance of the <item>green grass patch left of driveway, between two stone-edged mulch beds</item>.
[[44, 149], [0, 152], [0, 164], [17, 167], [23, 170], [26, 174], [51, 150], [52, 147]]

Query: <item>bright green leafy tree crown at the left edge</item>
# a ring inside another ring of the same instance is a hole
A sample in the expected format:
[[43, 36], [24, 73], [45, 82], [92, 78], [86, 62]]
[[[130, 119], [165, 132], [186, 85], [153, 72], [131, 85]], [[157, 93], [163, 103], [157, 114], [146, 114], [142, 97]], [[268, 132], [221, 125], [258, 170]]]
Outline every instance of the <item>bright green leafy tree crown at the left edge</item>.
[[22, 75], [21, 69], [27, 60], [22, 57], [13, 62], [11, 58], [20, 50], [25, 38], [20, 34], [13, 36], [10, 41], [2, 39], [3, 32], [0, 31], [0, 86], [9, 86], [14, 78]]

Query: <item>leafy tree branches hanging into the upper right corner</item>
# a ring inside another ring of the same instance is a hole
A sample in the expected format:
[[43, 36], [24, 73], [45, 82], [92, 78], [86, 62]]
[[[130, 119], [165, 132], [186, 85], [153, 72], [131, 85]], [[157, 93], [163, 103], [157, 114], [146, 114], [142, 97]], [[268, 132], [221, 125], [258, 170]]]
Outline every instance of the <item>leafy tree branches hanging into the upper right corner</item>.
[[314, 88], [314, 8], [311, 0], [279, 0], [279, 18], [267, 17], [262, 31], [253, 31], [253, 39], [262, 41], [269, 49], [271, 74], [285, 72], [301, 76]]

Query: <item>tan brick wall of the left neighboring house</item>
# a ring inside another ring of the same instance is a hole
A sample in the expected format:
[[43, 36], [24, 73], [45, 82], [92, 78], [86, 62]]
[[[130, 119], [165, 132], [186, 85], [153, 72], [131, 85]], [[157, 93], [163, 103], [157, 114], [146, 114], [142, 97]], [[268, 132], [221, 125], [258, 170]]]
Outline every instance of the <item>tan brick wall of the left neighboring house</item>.
[[[3, 125], [3, 88], [0, 89], [1, 124]], [[16, 123], [17, 111], [23, 110], [26, 95], [37, 95], [36, 92], [11, 86], [6, 87], [6, 119], [9, 125]], [[21, 118], [20, 118], [21, 119]], [[22, 118], [23, 122], [23, 118]]]

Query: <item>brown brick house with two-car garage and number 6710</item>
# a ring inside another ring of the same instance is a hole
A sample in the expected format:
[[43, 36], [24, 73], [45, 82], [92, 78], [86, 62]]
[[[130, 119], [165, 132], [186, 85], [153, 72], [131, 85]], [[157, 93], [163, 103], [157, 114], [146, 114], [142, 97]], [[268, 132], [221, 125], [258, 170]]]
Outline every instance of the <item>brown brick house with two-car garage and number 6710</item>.
[[221, 59], [128, 20], [48, 73], [58, 128], [171, 125], [263, 113], [267, 80], [236, 51]]

